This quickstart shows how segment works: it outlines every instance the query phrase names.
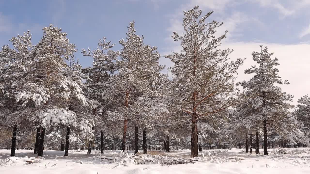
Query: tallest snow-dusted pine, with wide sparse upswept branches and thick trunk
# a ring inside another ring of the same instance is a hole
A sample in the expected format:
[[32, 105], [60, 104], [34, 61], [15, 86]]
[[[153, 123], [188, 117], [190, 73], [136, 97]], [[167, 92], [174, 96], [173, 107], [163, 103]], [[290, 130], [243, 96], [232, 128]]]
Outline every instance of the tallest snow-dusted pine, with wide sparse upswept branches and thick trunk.
[[[212, 13], [210, 11], [201, 17], [202, 11], [198, 6], [184, 11], [184, 34], [174, 32], [172, 35], [175, 41], [181, 41], [182, 53], [167, 56], [175, 64], [171, 69], [175, 76], [174, 97], [180, 99], [175, 107], [187, 113], [182, 120], [191, 120], [191, 157], [198, 155], [197, 120], [238, 102], [233, 97], [234, 80], [243, 59], [229, 62], [228, 54], [232, 50], [217, 48], [227, 31], [215, 38], [216, 29], [223, 23], [205, 23]], [[210, 102], [216, 105], [212, 106]]]

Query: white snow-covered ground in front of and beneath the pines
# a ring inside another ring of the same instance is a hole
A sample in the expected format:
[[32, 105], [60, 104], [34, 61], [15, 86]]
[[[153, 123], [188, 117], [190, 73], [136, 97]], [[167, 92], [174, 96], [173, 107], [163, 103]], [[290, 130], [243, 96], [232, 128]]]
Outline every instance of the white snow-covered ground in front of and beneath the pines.
[[[278, 149], [275, 149], [278, 151]], [[273, 149], [270, 155], [245, 154], [241, 149], [231, 149], [228, 152], [212, 152], [214, 158], [207, 158], [210, 151], [204, 150], [202, 161], [193, 164], [161, 165], [142, 164], [130, 166], [117, 166], [117, 162], [100, 159], [98, 152], [86, 156], [86, 151], [69, 151], [69, 156], [64, 157], [63, 151], [44, 151], [44, 159], [33, 160], [34, 163], [26, 164], [26, 161], [36, 157], [32, 150], [16, 150], [16, 157], [8, 156], [10, 150], [0, 150], [0, 173], [2, 174], [302, 174], [310, 172], [310, 148], [286, 149], [290, 154], [276, 154]], [[223, 151], [223, 150], [221, 150]], [[263, 150], [260, 149], [262, 152]], [[272, 152], [273, 151], [273, 152]], [[94, 151], [93, 151], [94, 152]], [[113, 158], [119, 156], [119, 151], [104, 151], [104, 157]], [[129, 151], [132, 153], [132, 151]], [[167, 156], [189, 158], [189, 150], [179, 150], [165, 153]], [[27, 157], [26, 157], [27, 156]], [[199, 152], [201, 157], [201, 152]], [[22, 157], [22, 158], [20, 158]], [[101, 156], [102, 157], [102, 156]], [[226, 160], [220, 160], [227, 157]], [[10, 159], [10, 160], [8, 160]], [[237, 160], [236, 160], [237, 159]], [[239, 160], [241, 159], [241, 160]], [[36, 161], [37, 160], [37, 161]], [[37, 163], [36, 163], [37, 162]], [[115, 167], [115, 168], [113, 168]]]

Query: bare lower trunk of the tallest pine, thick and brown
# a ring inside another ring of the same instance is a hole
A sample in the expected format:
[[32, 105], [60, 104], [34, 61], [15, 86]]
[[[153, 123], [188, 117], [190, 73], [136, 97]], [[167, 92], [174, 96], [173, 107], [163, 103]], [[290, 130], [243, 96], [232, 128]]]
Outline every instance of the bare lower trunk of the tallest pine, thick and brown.
[[191, 138], [191, 158], [198, 156], [198, 133], [196, 113], [192, 114], [192, 138]]

